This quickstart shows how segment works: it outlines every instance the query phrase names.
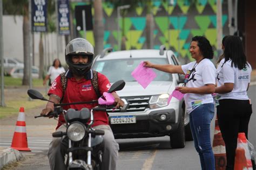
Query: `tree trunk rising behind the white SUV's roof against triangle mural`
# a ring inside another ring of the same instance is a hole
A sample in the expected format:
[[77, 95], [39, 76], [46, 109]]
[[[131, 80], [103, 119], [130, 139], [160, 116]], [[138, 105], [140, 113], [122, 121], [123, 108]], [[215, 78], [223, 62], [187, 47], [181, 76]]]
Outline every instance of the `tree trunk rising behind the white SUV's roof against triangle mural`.
[[147, 14], [146, 14], [146, 42], [147, 49], [153, 49], [153, 30], [154, 30], [154, 17], [151, 12], [152, 3], [147, 2]]

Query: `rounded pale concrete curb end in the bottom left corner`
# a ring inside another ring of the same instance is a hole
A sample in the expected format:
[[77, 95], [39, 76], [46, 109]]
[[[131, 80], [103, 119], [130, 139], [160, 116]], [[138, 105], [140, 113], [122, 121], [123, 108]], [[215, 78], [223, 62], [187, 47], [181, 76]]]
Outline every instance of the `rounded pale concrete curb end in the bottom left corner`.
[[0, 169], [6, 164], [24, 158], [24, 155], [16, 149], [7, 148], [0, 152]]

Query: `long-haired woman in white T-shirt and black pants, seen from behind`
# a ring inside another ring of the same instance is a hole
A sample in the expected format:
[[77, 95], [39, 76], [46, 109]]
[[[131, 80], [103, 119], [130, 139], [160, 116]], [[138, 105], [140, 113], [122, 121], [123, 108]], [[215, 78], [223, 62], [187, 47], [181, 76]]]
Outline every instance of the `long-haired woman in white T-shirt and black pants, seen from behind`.
[[235, 149], [238, 133], [244, 132], [248, 139], [248, 124], [252, 105], [247, 96], [252, 67], [247, 62], [241, 39], [228, 36], [225, 40], [225, 61], [218, 74], [215, 93], [218, 93], [218, 123], [223, 136], [227, 165], [226, 170], [234, 169]]

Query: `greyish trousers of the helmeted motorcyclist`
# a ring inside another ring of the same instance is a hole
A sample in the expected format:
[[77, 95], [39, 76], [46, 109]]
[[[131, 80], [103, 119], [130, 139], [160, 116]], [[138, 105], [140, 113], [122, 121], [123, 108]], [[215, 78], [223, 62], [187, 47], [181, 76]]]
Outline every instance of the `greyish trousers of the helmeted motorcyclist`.
[[[93, 127], [97, 130], [105, 131], [103, 135], [104, 139], [104, 153], [103, 153], [103, 164], [102, 169], [115, 170], [117, 169], [118, 151], [119, 145], [114, 140], [113, 132], [109, 125], [99, 125]], [[60, 126], [57, 131], [66, 132], [65, 126]], [[49, 145], [48, 158], [50, 161], [50, 168], [52, 170], [66, 169], [64, 164], [65, 149], [61, 147], [60, 138], [52, 138]]]

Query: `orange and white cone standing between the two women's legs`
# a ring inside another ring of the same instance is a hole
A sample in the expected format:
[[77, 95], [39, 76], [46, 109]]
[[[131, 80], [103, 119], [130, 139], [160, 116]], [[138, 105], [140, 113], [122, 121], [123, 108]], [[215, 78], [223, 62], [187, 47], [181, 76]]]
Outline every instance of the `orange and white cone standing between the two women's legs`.
[[215, 130], [214, 130], [212, 149], [213, 149], [214, 158], [215, 158], [215, 169], [216, 170], [226, 169], [227, 159], [226, 159], [225, 142], [220, 132], [217, 117], [215, 120]]

